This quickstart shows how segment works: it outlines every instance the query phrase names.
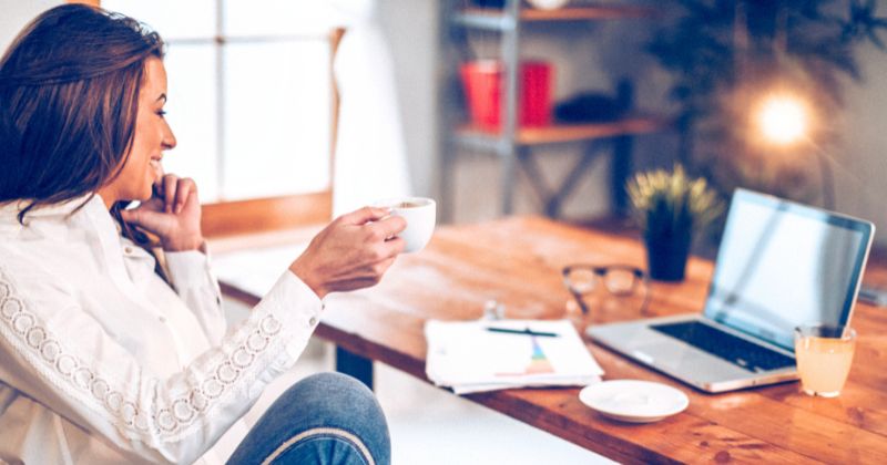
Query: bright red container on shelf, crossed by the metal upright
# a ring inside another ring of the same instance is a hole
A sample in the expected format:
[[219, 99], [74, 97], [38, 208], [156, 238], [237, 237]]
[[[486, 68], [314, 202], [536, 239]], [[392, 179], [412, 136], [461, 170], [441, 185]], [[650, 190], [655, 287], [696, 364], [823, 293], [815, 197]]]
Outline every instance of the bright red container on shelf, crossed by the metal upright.
[[[471, 124], [483, 130], [501, 127], [501, 96], [504, 65], [497, 60], [477, 60], [460, 68]], [[518, 124], [520, 127], [551, 124], [551, 64], [524, 61], [518, 76]]]

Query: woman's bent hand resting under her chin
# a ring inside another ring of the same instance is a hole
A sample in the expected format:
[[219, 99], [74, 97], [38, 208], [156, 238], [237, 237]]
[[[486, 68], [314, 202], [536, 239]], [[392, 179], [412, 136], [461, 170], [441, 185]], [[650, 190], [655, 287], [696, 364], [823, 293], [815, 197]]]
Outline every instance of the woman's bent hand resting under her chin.
[[164, 250], [195, 250], [203, 245], [201, 203], [194, 179], [163, 175], [154, 195], [137, 208], [121, 211], [124, 221], [157, 236]]

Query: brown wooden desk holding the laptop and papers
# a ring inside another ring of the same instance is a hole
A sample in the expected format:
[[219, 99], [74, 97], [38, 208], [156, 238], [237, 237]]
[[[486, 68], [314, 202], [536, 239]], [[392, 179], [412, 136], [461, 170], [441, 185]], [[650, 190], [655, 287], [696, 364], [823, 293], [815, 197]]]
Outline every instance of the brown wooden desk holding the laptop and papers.
[[[569, 262], [643, 265], [643, 248], [631, 239], [536, 217], [443, 227], [426, 250], [400, 257], [376, 288], [328, 298], [317, 334], [426, 380], [426, 320], [477, 319], [489, 299], [503, 302], [510, 318], [562, 318], [570, 296], [560, 269]], [[710, 262], [691, 259], [686, 281], [654, 283], [650, 313], [700, 311], [711, 272]], [[255, 290], [239, 291], [257, 299]], [[600, 316], [638, 317], [628, 310]], [[853, 324], [859, 338], [856, 359], [844, 393], [832, 400], [807, 396], [795, 382], [705, 394], [591, 343], [589, 349], [606, 372], [604, 379], [671, 384], [690, 396], [690, 406], [659, 423], [631, 425], [585, 407], [579, 389], [466, 397], [621, 462], [883, 464], [887, 463], [887, 311], [859, 304]]]

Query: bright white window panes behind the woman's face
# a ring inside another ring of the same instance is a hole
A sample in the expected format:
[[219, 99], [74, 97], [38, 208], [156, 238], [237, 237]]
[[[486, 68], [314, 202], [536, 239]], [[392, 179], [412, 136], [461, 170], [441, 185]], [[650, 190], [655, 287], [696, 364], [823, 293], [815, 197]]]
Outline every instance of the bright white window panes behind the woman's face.
[[330, 183], [328, 8], [287, 0], [103, 0], [167, 43], [164, 167], [203, 203], [326, 189]]

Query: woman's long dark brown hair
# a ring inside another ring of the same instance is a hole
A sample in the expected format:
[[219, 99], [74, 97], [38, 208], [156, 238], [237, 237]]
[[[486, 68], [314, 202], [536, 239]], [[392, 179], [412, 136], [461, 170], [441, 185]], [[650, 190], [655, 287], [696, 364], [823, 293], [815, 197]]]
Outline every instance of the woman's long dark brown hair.
[[[95, 7], [60, 6], [28, 24], [0, 59], [0, 204], [26, 200], [23, 221], [113, 180], [132, 148], [145, 61], [163, 53], [156, 32]], [[145, 246], [120, 208], [124, 235]]]

